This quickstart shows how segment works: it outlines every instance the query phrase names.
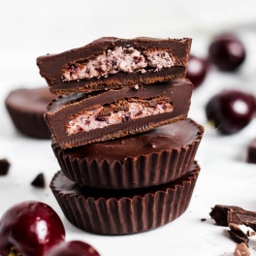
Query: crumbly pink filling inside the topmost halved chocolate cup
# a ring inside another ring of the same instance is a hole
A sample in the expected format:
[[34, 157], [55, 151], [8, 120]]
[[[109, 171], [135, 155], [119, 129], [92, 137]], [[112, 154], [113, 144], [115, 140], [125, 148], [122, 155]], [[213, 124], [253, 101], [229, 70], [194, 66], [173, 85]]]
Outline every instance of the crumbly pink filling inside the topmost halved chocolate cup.
[[175, 59], [166, 50], [148, 49], [143, 52], [135, 48], [116, 47], [87, 62], [74, 63], [63, 70], [62, 79], [83, 80], [107, 78], [120, 71], [141, 72], [148, 69], [159, 71], [175, 65]]

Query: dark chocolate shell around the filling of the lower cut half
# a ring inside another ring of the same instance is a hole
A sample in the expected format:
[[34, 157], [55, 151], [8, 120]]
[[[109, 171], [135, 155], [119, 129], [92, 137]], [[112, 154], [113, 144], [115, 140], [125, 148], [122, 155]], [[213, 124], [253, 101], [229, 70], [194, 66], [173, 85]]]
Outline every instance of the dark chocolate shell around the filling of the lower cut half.
[[[189, 80], [180, 79], [150, 84], [138, 90], [122, 88], [120, 90], [94, 92], [89, 95], [62, 96], [51, 102], [45, 117], [52, 134], [61, 148], [71, 148], [82, 144], [103, 142], [113, 138], [142, 133], [155, 127], [184, 119], [190, 107], [192, 90], [193, 85]], [[146, 116], [74, 135], [68, 135], [66, 132], [65, 125], [69, 121], [69, 116], [85, 109], [111, 104], [122, 98], [150, 99], [159, 96], [171, 99], [174, 107], [173, 112]]]

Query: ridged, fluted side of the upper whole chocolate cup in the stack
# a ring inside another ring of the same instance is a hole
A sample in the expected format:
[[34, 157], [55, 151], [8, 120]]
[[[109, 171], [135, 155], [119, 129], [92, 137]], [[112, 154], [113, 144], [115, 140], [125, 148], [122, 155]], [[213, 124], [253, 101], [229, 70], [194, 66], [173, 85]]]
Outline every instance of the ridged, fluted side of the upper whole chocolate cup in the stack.
[[[74, 157], [74, 149], [63, 150], [52, 139], [52, 149], [65, 176], [80, 185], [108, 188], [133, 189], [164, 184], [183, 176], [190, 170], [195, 154], [204, 134], [204, 128], [191, 119], [180, 121], [193, 124], [198, 129], [194, 140], [180, 144], [178, 148], [170, 145], [168, 150], [138, 154], [136, 157], [124, 155], [123, 160], [103, 160]], [[172, 127], [172, 125], [170, 126]], [[171, 129], [171, 128], [170, 128]], [[131, 140], [136, 136], [130, 137]], [[91, 146], [91, 145], [89, 145]], [[88, 146], [76, 150], [86, 150]]]

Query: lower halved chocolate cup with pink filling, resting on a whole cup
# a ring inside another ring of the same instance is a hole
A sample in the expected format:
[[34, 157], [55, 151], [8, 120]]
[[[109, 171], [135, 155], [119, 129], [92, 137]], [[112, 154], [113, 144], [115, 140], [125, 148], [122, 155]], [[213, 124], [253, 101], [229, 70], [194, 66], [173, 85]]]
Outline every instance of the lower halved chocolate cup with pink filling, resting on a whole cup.
[[184, 119], [191, 93], [192, 83], [180, 79], [139, 90], [72, 94], [52, 101], [45, 117], [56, 141], [65, 149], [143, 133]]

